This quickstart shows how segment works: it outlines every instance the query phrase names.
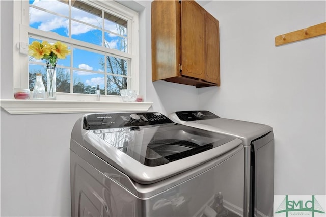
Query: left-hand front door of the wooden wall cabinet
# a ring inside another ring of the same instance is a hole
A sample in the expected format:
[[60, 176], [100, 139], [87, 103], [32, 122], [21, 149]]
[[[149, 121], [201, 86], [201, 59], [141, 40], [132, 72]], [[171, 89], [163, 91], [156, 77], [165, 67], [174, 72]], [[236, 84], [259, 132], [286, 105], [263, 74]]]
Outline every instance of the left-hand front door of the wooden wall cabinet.
[[181, 2], [182, 76], [205, 79], [205, 11], [195, 1]]

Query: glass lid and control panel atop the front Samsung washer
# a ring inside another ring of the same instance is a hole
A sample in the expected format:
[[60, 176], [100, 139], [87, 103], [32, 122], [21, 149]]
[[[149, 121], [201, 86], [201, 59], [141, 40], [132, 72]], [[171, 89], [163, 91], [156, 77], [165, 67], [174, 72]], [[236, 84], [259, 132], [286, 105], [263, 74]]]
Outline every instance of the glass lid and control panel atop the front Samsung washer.
[[83, 145], [140, 183], [168, 178], [241, 144], [228, 135], [175, 124], [160, 113], [154, 115], [160, 119], [148, 118], [154, 113], [134, 113], [144, 117], [139, 122], [126, 119], [132, 114], [84, 116]]

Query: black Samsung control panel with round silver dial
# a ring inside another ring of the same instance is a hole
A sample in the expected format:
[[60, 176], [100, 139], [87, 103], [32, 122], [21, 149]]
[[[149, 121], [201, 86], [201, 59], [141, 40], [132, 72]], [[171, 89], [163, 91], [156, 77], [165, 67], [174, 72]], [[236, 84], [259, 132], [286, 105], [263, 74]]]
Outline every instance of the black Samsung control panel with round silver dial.
[[95, 113], [83, 117], [83, 128], [87, 130], [147, 126], [166, 123], [173, 122], [165, 115], [157, 112]]

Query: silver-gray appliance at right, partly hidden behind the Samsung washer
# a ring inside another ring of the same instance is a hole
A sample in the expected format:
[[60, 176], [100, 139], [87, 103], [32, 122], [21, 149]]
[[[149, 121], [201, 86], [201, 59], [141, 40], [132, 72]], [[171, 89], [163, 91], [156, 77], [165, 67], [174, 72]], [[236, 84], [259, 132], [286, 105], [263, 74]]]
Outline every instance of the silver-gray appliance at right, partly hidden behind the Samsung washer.
[[241, 139], [244, 147], [243, 216], [273, 216], [273, 128], [264, 124], [220, 118], [209, 111], [178, 111], [168, 117], [175, 123]]

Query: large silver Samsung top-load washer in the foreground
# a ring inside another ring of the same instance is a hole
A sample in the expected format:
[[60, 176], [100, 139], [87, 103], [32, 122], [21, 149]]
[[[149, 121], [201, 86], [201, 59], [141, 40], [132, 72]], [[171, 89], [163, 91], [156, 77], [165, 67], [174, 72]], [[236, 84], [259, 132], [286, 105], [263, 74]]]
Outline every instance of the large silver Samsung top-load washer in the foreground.
[[242, 141], [160, 113], [89, 113], [71, 132], [72, 216], [243, 216]]

